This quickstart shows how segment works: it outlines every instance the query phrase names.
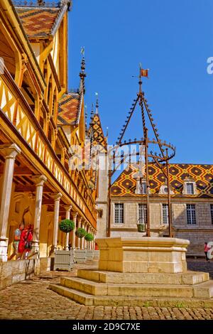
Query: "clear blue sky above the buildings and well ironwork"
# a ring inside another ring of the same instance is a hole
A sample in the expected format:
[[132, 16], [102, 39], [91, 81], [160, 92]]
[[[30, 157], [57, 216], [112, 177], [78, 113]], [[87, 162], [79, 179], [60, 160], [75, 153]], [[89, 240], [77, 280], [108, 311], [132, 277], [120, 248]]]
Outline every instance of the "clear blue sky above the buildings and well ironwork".
[[[173, 163], [213, 163], [212, 0], [73, 0], [69, 13], [69, 87], [79, 86], [85, 48], [90, 112], [99, 114], [114, 144], [136, 97], [138, 64], [149, 68], [143, 90], [160, 139], [177, 148]], [[141, 138], [139, 110], [126, 139]], [[153, 135], [151, 134], [151, 138]]]

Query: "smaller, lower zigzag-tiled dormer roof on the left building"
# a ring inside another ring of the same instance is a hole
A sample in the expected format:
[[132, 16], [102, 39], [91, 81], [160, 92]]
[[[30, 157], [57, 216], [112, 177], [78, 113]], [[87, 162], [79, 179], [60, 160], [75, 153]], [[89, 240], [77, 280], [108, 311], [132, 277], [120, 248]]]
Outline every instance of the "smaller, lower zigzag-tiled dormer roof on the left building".
[[58, 104], [58, 125], [76, 124], [80, 108], [79, 94], [65, 94]]

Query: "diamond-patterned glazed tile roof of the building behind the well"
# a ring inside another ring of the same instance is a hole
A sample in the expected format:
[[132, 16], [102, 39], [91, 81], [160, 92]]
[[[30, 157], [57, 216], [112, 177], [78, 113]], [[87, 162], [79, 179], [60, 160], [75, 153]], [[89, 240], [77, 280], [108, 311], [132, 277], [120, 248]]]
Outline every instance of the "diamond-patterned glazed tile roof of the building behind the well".
[[[160, 185], [165, 184], [165, 176], [155, 163], [149, 165], [151, 195], [159, 195]], [[141, 196], [136, 195], [136, 178], [138, 166], [126, 168], [111, 186], [111, 196]], [[197, 185], [196, 195], [183, 195], [185, 178], [191, 177]], [[193, 165], [188, 163], [170, 164], [170, 183], [174, 197], [213, 198], [213, 165]], [[142, 195], [143, 196], [143, 195]], [[144, 195], [146, 196], [146, 195]]]

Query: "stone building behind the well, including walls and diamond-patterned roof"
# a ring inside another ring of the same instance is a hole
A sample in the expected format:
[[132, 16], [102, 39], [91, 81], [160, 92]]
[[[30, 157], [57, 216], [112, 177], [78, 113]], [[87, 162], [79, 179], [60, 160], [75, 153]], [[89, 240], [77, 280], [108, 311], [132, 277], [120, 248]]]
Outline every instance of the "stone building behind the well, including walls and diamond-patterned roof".
[[[137, 166], [131, 165], [111, 186], [111, 237], [145, 235], [137, 230], [138, 222], [146, 222], [146, 194], [143, 193], [146, 187], [142, 185], [141, 193], [136, 191], [137, 173]], [[175, 237], [190, 240], [187, 254], [204, 255], [204, 242], [213, 241], [212, 176], [212, 165], [170, 165], [173, 233]], [[151, 235], [166, 236], [167, 185], [163, 173], [154, 163], [149, 165], [149, 180]]]

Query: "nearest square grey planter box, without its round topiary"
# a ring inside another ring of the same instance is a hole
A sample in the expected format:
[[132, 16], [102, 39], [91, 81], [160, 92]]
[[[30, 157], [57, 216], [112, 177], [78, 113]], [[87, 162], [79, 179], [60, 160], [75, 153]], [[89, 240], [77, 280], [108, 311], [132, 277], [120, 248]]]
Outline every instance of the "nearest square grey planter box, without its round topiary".
[[70, 271], [74, 264], [74, 252], [71, 250], [57, 250], [55, 251], [55, 261], [53, 270], [67, 270]]

